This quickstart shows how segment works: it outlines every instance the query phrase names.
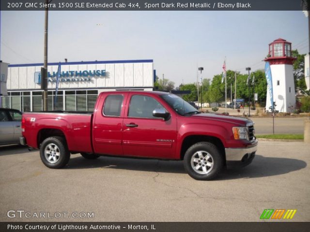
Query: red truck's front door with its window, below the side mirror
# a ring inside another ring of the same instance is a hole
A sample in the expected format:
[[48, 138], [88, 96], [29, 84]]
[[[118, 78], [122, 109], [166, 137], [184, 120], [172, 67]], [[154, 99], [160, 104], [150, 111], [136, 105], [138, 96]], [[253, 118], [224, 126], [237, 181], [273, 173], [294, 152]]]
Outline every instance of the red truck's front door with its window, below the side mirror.
[[164, 108], [167, 111], [158, 98], [142, 92], [130, 93], [123, 126], [125, 156], [174, 158], [176, 117], [171, 115], [169, 120], [164, 121], [153, 116], [154, 109]]

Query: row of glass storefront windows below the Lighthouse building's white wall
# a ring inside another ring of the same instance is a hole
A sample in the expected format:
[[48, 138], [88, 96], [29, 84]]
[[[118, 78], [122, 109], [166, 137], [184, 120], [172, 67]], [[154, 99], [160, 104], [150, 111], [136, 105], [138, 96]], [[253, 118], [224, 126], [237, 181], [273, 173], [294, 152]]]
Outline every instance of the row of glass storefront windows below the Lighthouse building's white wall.
[[[92, 112], [98, 96], [98, 90], [48, 91], [48, 110], [89, 111]], [[1, 96], [3, 108], [17, 109], [22, 112], [42, 111], [42, 91], [11, 91]], [[32, 109], [32, 110], [31, 110]]]

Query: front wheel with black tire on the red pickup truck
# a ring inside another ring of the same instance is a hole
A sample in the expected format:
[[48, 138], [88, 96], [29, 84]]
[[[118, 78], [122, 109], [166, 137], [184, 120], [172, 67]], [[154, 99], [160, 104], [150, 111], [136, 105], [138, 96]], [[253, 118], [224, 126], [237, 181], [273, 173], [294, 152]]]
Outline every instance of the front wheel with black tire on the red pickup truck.
[[224, 159], [216, 145], [200, 142], [189, 147], [184, 156], [184, 168], [196, 180], [212, 180], [222, 170]]

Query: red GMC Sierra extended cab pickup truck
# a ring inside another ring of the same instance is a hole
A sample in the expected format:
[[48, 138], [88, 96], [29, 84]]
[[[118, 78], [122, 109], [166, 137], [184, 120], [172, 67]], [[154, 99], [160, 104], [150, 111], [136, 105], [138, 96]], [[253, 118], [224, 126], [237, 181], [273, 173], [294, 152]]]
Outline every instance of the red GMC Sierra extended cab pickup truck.
[[203, 114], [155, 91], [102, 92], [93, 113], [24, 113], [21, 127], [20, 143], [40, 149], [49, 168], [65, 166], [71, 153], [184, 160], [191, 177], [210, 180], [226, 165], [249, 164], [257, 150], [252, 121]]

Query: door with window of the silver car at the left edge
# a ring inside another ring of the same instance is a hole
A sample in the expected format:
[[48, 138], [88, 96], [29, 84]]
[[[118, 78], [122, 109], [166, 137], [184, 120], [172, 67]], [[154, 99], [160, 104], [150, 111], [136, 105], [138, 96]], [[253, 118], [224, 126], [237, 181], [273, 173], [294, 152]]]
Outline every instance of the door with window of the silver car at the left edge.
[[0, 144], [14, 143], [14, 127], [7, 110], [0, 109]]

